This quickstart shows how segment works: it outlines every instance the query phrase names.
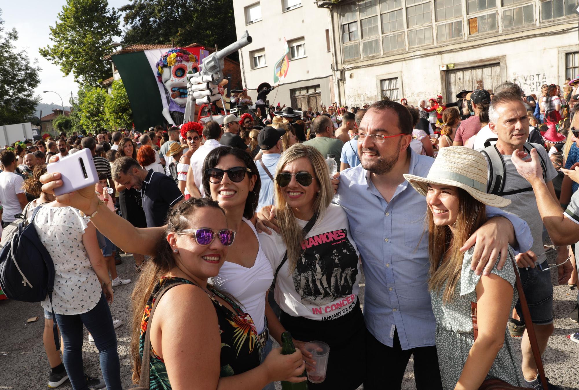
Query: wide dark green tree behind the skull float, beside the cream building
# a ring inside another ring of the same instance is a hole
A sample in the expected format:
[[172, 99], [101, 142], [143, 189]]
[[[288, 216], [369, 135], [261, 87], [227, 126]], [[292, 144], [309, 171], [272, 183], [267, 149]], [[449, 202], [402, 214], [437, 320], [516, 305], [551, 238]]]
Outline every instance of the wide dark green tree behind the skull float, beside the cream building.
[[[119, 8], [127, 30], [123, 43], [199, 43], [218, 48], [237, 40], [231, 0], [131, 0]], [[230, 57], [237, 60], [237, 53]]]

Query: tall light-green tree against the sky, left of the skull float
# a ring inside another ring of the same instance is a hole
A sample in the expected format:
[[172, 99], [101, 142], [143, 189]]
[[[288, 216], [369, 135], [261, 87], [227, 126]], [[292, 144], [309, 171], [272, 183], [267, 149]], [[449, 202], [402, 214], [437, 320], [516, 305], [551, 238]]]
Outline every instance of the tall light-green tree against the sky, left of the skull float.
[[120, 34], [119, 12], [109, 9], [107, 0], [67, 0], [50, 27], [54, 45], [39, 52], [65, 75], [72, 72], [76, 82], [96, 86], [112, 76], [111, 64], [102, 57], [114, 51], [112, 38]]

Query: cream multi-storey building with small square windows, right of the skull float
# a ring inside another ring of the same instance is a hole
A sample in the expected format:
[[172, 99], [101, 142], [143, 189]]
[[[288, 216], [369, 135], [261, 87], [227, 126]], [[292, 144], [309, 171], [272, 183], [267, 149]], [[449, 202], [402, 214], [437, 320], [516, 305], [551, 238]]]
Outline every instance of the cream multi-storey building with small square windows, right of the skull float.
[[312, 0], [234, 0], [237, 37], [245, 30], [253, 42], [239, 52], [241, 78], [256, 100], [262, 82], [274, 85], [274, 66], [290, 47], [287, 76], [267, 95], [270, 105], [319, 110], [335, 99], [328, 9]]

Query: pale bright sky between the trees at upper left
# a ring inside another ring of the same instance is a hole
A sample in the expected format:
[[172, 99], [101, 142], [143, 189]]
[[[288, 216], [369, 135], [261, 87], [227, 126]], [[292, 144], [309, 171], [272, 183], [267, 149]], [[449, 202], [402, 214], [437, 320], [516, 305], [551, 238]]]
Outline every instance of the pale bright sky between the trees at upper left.
[[[127, 3], [129, 0], [109, 0], [109, 8], [119, 8]], [[47, 45], [52, 46], [49, 27], [54, 26], [58, 13], [61, 12], [65, 4], [65, 0], [1, 1], [2, 15], [0, 17], [4, 20], [5, 31], [16, 28], [18, 32], [16, 48], [28, 53], [31, 62], [34, 59], [38, 60], [38, 65], [41, 67], [41, 82], [35, 89], [35, 94], [41, 97], [42, 103], [60, 105], [60, 97], [56, 94], [58, 93], [66, 107], [69, 105], [71, 92], [76, 95], [78, 84], [74, 82], [72, 74], [64, 76], [60, 67], [50, 63], [38, 53], [39, 48], [44, 48]], [[23, 9], [23, 5], [25, 5], [25, 9]], [[119, 39], [119, 37], [115, 37], [114, 41], [119, 42]], [[42, 93], [44, 90], [51, 90], [56, 93]]]

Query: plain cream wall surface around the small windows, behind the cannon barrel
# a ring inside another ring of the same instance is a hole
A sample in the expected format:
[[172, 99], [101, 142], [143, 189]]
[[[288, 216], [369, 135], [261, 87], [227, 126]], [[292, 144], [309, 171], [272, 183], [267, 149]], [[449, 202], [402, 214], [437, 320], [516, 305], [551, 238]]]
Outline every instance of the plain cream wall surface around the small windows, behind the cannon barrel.
[[[252, 99], [255, 101], [260, 83], [273, 85], [273, 67], [283, 54], [284, 38], [290, 42], [303, 37], [306, 57], [290, 60], [287, 77], [281, 81], [280, 88], [267, 96], [270, 104], [275, 100], [275, 104], [279, 101], [290, 105], [290, 89], [318, 84], [323, 103], [334, 101], [331, 81], [328, 80], [332, 76], [332, 53], [327, 50], [325, 32], [331, 29], [328, 10], [317, 8], [310, 0], [302, 0], [302, 6], [282, 12], [283, 0], [261, 0], [262, 20], [245, 25], [244, 8], [254, 3], [255, 0], [233, 2], [237, 36], [247, 30], [253, 38], [250, 45], [240, 50], [241, 78]], [[266, 66], [252, 69], [250, 52], [262, 48], [265, 49]]]

